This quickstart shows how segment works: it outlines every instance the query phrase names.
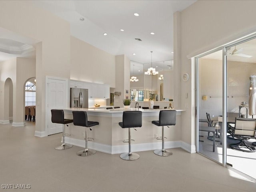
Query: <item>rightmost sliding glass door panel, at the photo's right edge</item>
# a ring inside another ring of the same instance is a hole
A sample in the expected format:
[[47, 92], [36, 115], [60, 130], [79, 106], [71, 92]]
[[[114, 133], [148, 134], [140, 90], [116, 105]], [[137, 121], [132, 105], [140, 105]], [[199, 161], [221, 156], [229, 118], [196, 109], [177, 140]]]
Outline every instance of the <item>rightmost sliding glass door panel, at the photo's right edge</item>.
[[227, 54], [227, 164], [252, 178], [256, 178], [255, 53], [254, 38], [229, 47]]

